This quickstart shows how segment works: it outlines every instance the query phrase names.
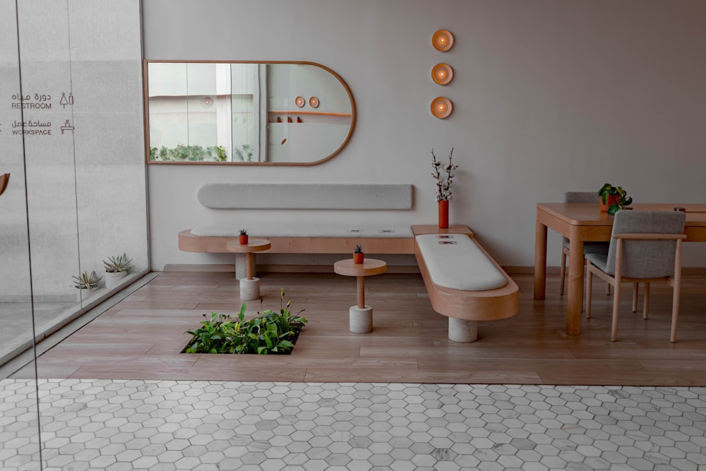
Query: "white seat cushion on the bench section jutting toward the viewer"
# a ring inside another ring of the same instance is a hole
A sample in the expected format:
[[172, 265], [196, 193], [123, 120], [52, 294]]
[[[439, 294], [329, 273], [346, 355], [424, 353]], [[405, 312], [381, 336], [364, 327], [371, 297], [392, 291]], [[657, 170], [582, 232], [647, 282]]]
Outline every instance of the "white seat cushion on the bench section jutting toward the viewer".
[[465, 234], [423, 234], [417, 245], [435, 285], [451, 290], [496, 290], [508, 284], [470, 237]]

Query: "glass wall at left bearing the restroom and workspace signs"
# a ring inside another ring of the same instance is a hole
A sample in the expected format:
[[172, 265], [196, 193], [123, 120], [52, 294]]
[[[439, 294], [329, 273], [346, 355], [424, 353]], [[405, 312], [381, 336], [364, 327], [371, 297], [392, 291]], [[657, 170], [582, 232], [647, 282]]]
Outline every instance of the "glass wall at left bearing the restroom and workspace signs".
[[58, 469], [42, 353], [149, 270], [140, 2], [0, 0], [0, 41], [0, 469]]

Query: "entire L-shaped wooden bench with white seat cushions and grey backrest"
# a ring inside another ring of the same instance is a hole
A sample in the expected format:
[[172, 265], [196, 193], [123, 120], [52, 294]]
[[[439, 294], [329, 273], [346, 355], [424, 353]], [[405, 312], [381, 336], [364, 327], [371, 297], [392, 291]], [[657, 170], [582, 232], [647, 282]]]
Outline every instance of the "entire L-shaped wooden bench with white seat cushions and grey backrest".
[[[350, 254], [361, 244], [366, 254], [414, 254], [433, 309], [449, 318], [449, 338], [457, 342], [477, 340], [477, 321], [517, 314], [518, 289], [477, 244], [468, 227], [454, 225], [439, 229], [434, 225], [375, 226], [359, 222], [263, 225], [249, 223], [245, 213], [239, 212], [237, 217], [229, 213], [229, 210], [322, 210], [318, 217], [321, 221], [325, 220], [326, 210], [409, 210], [413, 205], [412, 196], [410, 184], [205, 184], [198, 190], [197, 199], [207, 214], [213, 215], [214, 220], [237, 222], [183, 230], [179, 232], [179, 249], [227, 254], [227, 244], [238, 239], [242, 227], [248, 229], [251, 237], [269, 239], [268, 253]], [[425, 243], [418, 237], [422, 234], [453, 239], [438, 239], [450, 243], [435, 242], [426, 244], [433, 249], [421, 249]], [[439, 250], [440, 247], [448, 250]], [[449, 262], [444, 262], [446, 252], [453, 252]], [[244, 278], [244, 254], [235, 254], [235, 257], [236, 277]], [[465, 284], [457, 285], [459, 280]], [[494, 281], [489, 285], [488, 280]]]

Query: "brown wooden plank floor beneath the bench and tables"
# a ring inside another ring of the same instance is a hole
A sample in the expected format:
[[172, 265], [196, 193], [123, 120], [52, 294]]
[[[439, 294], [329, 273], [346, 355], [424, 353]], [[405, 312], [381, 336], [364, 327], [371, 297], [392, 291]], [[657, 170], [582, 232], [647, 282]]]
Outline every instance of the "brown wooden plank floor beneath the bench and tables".
[[309, 323], [291, 355], [257, 356], [179, 353], [202, 314], [239, 311], [239, 286], [232, 273], [163, 273], [42, 354], [37, 369], [41, 378], [706, 386], [705, 278], [684, 279], [676, 344], [669, 287], [653, 287], [644, 321], [624, 285], [618, 342], [610, 342], [612, 297], [601, 282], [593, 318], [569, 336], [558, 277], [549, 275], [544, 301], [532, 299], [531, 275], [513, 279], [519, 314], [480, 323], [479, 340], [460, 344], [448, 340], [447, 318], [431, 309], [418, 274], [368, 278], [374, 330], [354, 334], [354, 278], [265, 273], [263, 304], [250, 302], [249, 316], [279, 309], [282, 287]]

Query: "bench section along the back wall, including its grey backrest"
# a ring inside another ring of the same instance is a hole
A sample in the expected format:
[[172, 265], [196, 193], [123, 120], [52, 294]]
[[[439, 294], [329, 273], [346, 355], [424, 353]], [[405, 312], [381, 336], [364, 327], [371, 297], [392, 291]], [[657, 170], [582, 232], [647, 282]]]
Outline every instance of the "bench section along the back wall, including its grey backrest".
[[[411, 184], [319, 183], [210, 183], [198, 189], [196, 199], [213, 220], [237, 220], [232, 225], [201, 226], [179, 232], [179, 249], [226, 254], [227, 244], [238, 238], [239, 228], [251, 237], [270, 239], [270, 254], [350, 254], [362, 244], [367, 254], [414, 254], [414, 234], [409, 225], [321, 223], [327, 211], [409, 210]], [[261, 224], [251, 222], [267, 210], [321, 210], [317, 222]], [[237, 217], [232, 216], [238, 210]], [[242, 278], [244, 258], [235, 256], [237, 278]]]

